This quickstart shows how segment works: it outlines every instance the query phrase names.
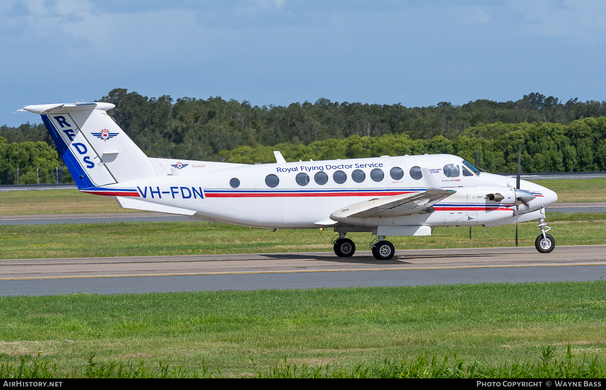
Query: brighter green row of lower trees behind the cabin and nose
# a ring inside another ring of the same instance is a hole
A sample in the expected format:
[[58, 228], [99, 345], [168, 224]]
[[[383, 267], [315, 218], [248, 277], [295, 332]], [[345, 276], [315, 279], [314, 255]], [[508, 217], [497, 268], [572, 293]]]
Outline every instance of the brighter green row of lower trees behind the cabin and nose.
[[253, 164], [275, 162], [273, 150], [287, 161], [404, 156], [405, 154], [455, 154], [489, 172], [514, 173], [518, 148], [522, 148], [522, 172], [606, 170], [606, 117], [586, 118], [570, 125], [552, 123], [496, 124], [467, 128], [450, 140], [444, 136], [411, 139], [408, 134], [380, 137], [351, 136], [310, 145], [278, 144], [273, 147], [242, 146], [221, 153], [227, 162]]

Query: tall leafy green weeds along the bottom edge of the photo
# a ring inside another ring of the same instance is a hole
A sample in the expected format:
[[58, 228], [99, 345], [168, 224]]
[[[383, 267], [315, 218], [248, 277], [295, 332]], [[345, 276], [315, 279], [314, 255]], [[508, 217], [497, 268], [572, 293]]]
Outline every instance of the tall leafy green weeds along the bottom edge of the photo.
[[[606, 368], [598, 361], [587, 356], [579, 359], [573, 355], [572, 346], [568, 343], [565, 359], [557, 359], [556, 348], [551, 345], [541, 348], [536, 363], [514, 362], [498, 367], [485, 365], [477, 360], [467, 363], [464, 359], [449, 355], [440, 358], [427, 352], [411, 359], [387, 361], [375, 365], [361, 363], [348, 369], [338, 365], [320, 365], [310, 367], [303, 363], [284, 362], [266, 371], [246, 373], [243, 377], [255, 378], [604, 378]], [[83, 369], [72, 369], [69, 372], [59, 371], [59, 365], [50, 359], [36, 357], [30, 362], [21, 357], [21, 362], [0, 363], [2, 378], [225, 378], [233, 377], [231, 372], [223, 375], [220, 369], [211, 371], [205, 365], [201, 368], [185, 369], [183, 366], [158, 362], [148, 366], [144, 360], [139, 362], [98, 362], [95, 354], [90, 355], [87, 366]], [[597, 386], [598, 382], [591, 382]]]

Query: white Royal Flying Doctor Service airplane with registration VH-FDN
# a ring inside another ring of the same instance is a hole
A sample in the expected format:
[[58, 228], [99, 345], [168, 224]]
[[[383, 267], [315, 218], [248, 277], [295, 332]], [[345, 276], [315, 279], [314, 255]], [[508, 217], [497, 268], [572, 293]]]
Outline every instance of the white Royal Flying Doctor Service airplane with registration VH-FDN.
[[[429, 236], [438, 226], [498, 226], [539, 220], [535, 245], [549, 253], [540, 185], [480, 172], [450, 154], [275, 164], [149, 158], [108, 116], [109, 103], [28, 105], [40, 114], [83, 193], [121, 207], [273, 229], [334, 228], [335, 254], [353, 255], [350, 232], [377, 236], [376, 259], [393, 257], [386, 236]], [[523, 188], [523, 189], [522, 189]]]

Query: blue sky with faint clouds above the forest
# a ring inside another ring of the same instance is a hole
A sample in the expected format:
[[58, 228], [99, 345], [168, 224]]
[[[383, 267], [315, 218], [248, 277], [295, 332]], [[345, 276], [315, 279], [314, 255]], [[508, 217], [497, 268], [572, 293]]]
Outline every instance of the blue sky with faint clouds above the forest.
[[4, 0], [0, 124], [113, 88], [253, 105], [603, 101], [605, 48], [602, 1]]

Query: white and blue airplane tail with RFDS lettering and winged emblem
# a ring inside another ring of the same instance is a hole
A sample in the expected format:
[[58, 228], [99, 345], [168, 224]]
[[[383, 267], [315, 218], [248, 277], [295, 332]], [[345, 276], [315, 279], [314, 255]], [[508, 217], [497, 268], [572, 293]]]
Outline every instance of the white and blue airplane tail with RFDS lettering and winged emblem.
[[109, 103], [28, 105], [40, 114], [80, 190], [157, 176], [145, 153], [107, 114]]

